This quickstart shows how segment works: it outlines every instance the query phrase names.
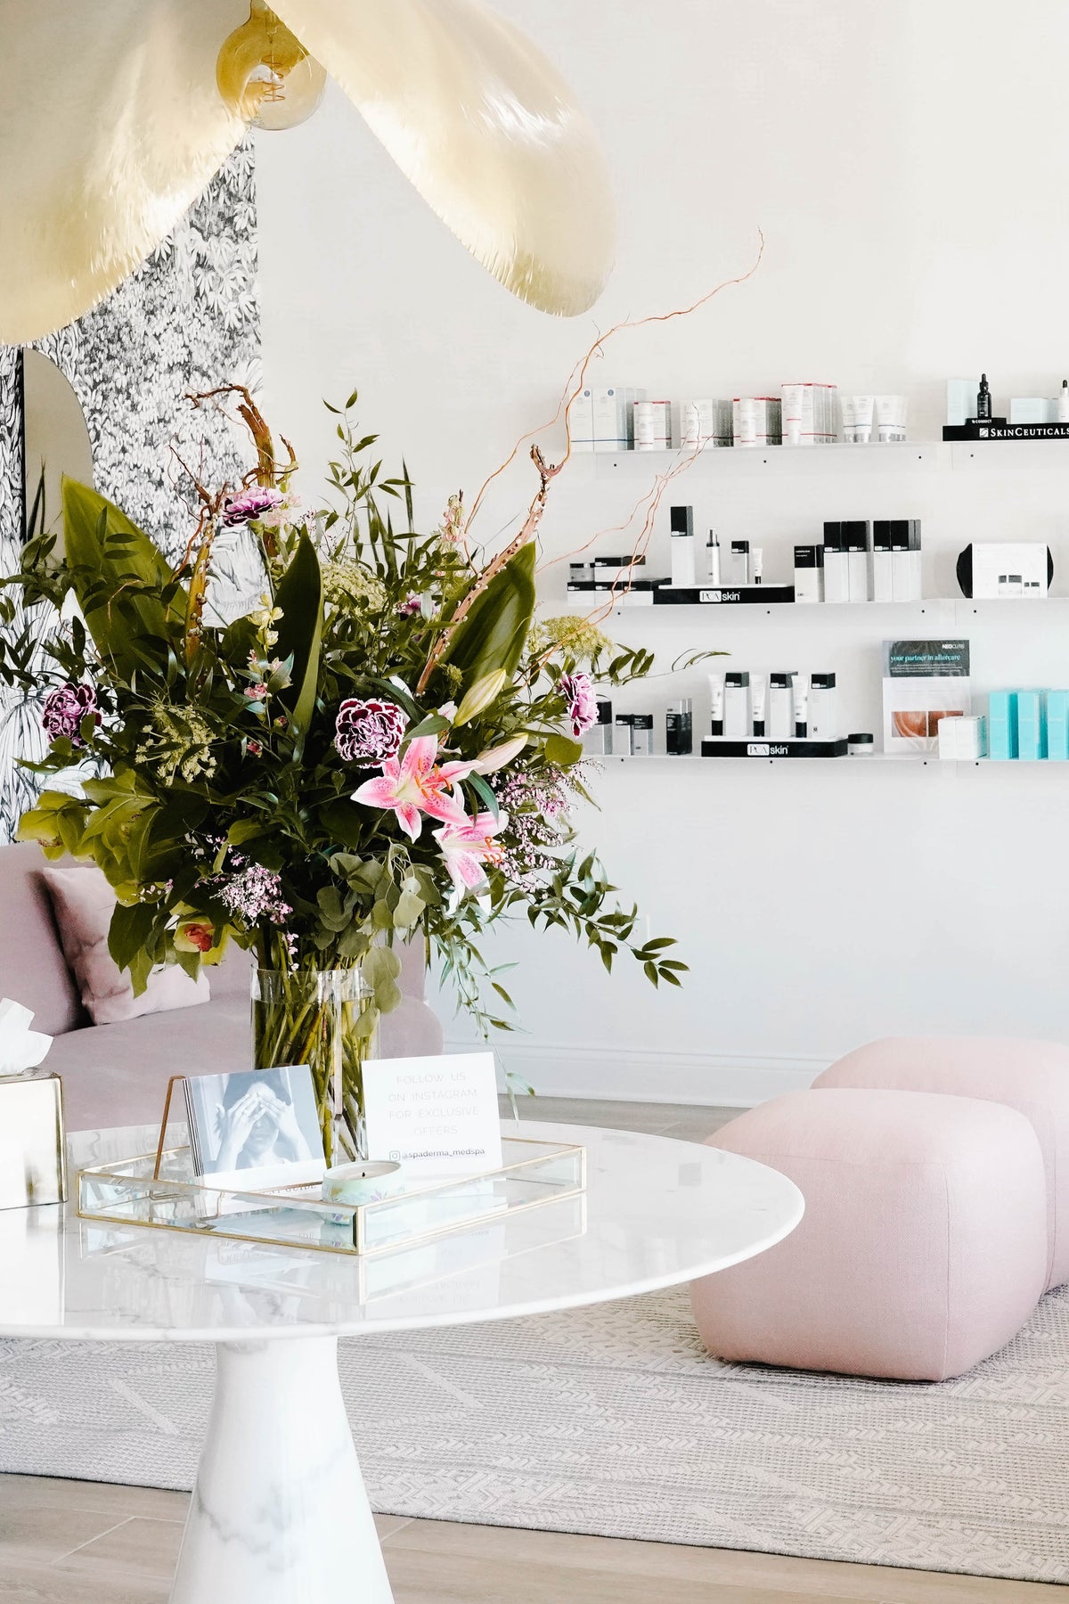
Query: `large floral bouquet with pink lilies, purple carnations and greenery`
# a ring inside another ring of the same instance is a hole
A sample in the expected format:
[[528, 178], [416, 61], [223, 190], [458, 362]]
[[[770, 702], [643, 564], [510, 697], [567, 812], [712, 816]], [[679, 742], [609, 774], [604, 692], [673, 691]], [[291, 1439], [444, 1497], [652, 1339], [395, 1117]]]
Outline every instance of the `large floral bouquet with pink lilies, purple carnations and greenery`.
[[[338, 460], [311, 510], [292, 451], [279, 460], [252, 396], [237, 395], [256, 468], [236, 489], [196, 486], [178, 568], [119, 507], [67, 481], [63, 555], [42, 534], [3, 581], [59, 614], [51, 744], [35, 767], [46, 780], [75, 764], [95, 775], [79, 794], [43, 789], [21, 839], [99, 865], [119, 898], [111, 953], [135, 990], [160, 964], [196, 975], [236, 942], [261, 970], [293, 977], [293, 998], [301, 975], [359, 974], [349, 1023], [364, 1043], [399, 1001], [394, 943], [413, 937], [484, 1030], [510, 1028], [487, 1001], [510, 1003], [479, 938], [516, 913], [571, 930], [606, 969], [627, 951], [654, 985], [678, 985], [673, 943], [636, 940], [636, 909], [614, 901], [574, 842], [595, 688], [647, 674], [652, 658], [585, 619], [534, 622], [535, 534], [558, 470], [532, 451], [540, 489], [522, 529], [476, 557], [460, 497], [417, 533], [407, 470], [381, 476], [356, 395], [332, 409]], [[256, 542], [264, 587], [258, 608], [224, 622], [205, 603], [231, 531]], [[26, 683], [27, 648], [29, 630], [0, 640], [8, 683]], [[300, 1028], [319, 1020], [293, 1003], [272, 1025], [276, 1062], [314, 1057]], [[354, 1107], [359, 1044], [346, 1054]]]

